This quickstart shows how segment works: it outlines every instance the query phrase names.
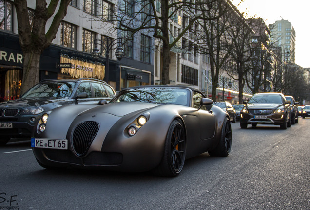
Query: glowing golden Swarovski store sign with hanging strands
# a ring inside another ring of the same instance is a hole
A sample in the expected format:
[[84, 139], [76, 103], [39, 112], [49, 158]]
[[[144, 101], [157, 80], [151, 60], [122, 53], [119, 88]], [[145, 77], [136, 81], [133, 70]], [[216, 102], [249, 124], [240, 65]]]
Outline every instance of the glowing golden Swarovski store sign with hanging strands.
[[[70, 58], [67, 55], [61, 55], [60, 57], [61, 73], [69, 74], [74, 78], [104, 78], [105, 66], [101, 64], [95, 64], [92, 61], [79, 60], [77, 58]], [[67, 67], [66, 67], [67, 66]]]

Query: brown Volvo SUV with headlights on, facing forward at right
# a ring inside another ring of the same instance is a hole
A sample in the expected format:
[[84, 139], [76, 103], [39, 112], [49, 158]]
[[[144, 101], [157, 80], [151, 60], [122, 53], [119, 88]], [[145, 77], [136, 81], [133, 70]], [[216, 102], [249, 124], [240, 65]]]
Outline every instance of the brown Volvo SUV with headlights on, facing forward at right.
[[281, 129], [291, 127], [290, 104], [282, 93], [256, 93], [240, 113], [240, 127], [247, 128], [248, 124], [280, 125]]

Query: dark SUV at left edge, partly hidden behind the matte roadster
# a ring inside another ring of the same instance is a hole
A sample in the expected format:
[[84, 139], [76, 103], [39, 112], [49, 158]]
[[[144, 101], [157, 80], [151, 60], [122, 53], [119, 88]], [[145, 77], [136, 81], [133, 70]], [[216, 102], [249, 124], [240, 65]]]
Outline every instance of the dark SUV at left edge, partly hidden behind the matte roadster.
[[63, 105], [97, 104], [115, 95], [110, 85], [97, 79], [41, 81], [21, 98], [0, 103], [0, 145], [11, 137], [31, 137], [45, 111]]

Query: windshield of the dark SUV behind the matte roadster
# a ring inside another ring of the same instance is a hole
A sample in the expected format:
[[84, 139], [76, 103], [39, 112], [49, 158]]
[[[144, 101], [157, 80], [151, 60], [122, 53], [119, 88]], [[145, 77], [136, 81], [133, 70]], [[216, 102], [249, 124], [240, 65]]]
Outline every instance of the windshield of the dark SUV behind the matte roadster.
[[21, 98], [65, 98], [70, 97], [75, 82], [47, 82], [37, 84]]

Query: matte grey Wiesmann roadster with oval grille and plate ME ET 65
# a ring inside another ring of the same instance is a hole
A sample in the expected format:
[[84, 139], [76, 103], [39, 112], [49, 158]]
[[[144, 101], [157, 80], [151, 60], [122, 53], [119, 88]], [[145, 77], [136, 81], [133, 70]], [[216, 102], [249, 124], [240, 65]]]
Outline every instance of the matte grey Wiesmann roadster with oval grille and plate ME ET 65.
[[206, 151], [226, 157], [229, 116], [186, 86], [139, 86], [108, 104], [68, 105], [46, 112], [31, 140], [45, 168], [80, 167], [179, 175], [185, 159]]

